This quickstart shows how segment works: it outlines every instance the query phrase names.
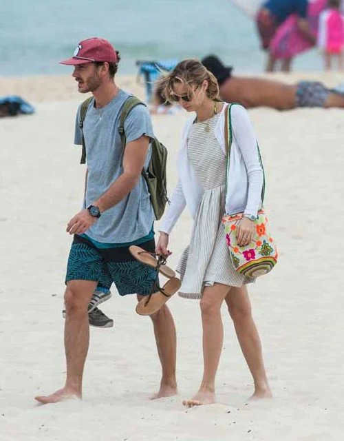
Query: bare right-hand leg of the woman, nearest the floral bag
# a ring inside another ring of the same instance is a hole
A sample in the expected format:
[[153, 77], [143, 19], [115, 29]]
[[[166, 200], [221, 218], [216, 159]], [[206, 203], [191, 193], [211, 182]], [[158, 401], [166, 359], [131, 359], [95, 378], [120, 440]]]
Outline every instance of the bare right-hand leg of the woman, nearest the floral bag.
[[226, 296], [226, 303], [234, 322], [241, 350], [255, 382], [255, 393], [253, 393], [252, 398], [272, 398], [264, 367], [261, 341], [252, 318], [250, 298], [246, 286], [232, 288]]

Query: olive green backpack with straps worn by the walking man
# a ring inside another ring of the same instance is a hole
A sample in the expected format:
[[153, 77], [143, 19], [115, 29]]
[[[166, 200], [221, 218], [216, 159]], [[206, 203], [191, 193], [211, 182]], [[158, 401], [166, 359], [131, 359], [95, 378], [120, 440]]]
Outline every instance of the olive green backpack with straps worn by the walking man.
[[[80, 121], [79, 127], [83, 133], [83, 123], [85, 121], [85, 116], [89, 103], [92, 100], [92, 96], [87, 98], [80, 107]], [[136, 96], [129, 96], [127, 101], [125, 101], [122, 112], [120, 114], [120, 125], [118, 127], [118, 133], [120, 134], [120, 139], [122, 141], [123, 151], [125, 150], [126, 139], [125, 139], [125, 119], [133, 110], [136, 105], [145, 105]], [[80, 164], [85, 164], [86, 162], [86, 147], [85, 139], [83, 135], [83, 152], [81, 154]], [[167, 184], [166, 184], [166, 162], [167, 162], [167, 149], [160, 143], [160, 141], [154, 138], [151, 141], [151, 160], [147, 171], [142, 169], [142, 176], [144, 181], [147, 183], [149, 194], [151, 197], [151, 205], [153, 206], [155, 218], [159, 220], [164, 214], [164, 209], [166, 202], [169, 202], [167, 197]]]

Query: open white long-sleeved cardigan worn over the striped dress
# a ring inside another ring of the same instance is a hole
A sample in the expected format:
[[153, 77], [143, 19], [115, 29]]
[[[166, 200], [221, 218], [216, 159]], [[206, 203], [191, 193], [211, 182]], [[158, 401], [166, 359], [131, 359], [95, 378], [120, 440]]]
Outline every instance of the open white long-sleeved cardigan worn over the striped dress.
[[[226, 103], [222, 107], [214, 134], [226, 155], [224, 134]], [[261, 164], [257, 139], [248, 112], [241, 105], [233, 105], [230, 110], [233, 141], [230, 148], [230, 165], [227, 174], [226, 213], [244, 212], [257, 216], [261, 208], [261, 193], [264, 185], [264, 169]], [[192, 165], [189, 163], [187, 142], [191, 125], [195, 117], [187, 121], [183, 135], [182, 147], [178, 154], [177, 167], [179, 180], [171, 197], [171, 205], [162, 222], [160, 232], [169, 234], [185, 206], [195, 217], [204, 189], [198, 180]], [[211, 214], [209, 214], [211, 216]]]

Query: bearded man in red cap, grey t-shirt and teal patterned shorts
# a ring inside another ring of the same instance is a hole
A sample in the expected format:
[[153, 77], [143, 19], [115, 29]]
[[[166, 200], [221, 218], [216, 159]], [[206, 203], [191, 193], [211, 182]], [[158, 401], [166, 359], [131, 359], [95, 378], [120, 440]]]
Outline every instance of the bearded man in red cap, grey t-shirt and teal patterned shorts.
[[[67, 380], [63, 389], [37, 396], [42, 403], [81, 398], [85, 359], [89, 347], [87, 307], [96, 287], [116, 284], [118, 294], [151, 294], [155, 269], [131, 256], [130, 245], [155, 252], [153, 207], [142, 168], [151, 156], [153, 129], [147, 107], [136, 105], [125, 119], [123, 152], [118, 132], [122, 106], [130, 94], [118, 88], [114, 76], [120, 56], [109, 41], [81, 41], [72, 58], [73, 76], [81, 93], [92, 92], [83, 127], [80, 106], [74, 143], [85, 141], [87, 174], [83, 209], [67, 224], [74, 235], [65, 278], [65, 353]], [[175, 380], [175, 326], [164, 305], [151, 316], [162, 364], [160, 390], [155, 398], [177, 393]]]

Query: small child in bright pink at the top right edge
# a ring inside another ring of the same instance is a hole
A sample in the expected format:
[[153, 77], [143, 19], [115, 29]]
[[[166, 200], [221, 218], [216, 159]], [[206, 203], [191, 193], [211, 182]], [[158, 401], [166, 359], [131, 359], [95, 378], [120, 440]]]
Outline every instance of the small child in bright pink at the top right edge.
[[327, 8], [319, 18], [318, 47], [323, 53], [325, 69], [330, 70], [332, 59], [338, 59], [338, 69], [343, 70], [344, 17], [341, 0], [328, 0]]

